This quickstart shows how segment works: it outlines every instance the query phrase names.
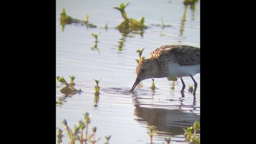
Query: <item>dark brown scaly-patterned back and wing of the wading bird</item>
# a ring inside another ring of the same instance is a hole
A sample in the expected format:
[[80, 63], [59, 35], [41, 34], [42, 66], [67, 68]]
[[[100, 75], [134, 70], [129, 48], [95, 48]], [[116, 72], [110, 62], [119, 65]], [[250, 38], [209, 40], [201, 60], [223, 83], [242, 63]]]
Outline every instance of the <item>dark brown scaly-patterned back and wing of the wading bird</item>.
[[200, 64], [200, 48], [186, 45], [164, 45], [151, 52], [148, 58], [172, 60], [182, 66]]

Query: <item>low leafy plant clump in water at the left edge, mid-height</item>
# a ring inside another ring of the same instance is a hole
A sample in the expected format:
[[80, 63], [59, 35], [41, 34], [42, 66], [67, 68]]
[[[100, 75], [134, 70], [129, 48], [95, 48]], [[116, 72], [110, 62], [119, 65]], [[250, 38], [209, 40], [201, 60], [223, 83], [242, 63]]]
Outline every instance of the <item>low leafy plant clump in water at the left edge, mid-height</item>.
[[75, 76], [70, 76], [70, 84], [68, 84], [68, 82], [63, 78], [63, 76], [61, 77], [57, 76], [57, 80], [66, 85], [66, 87], [62, 88], [60, 92], [66, 95], [76, 94], [76, 92], [81, 92], [82, 90], [80, 88], [78, 90], [74, 88], [74, 84], [75, 84], [74, 79], [75, 79]]

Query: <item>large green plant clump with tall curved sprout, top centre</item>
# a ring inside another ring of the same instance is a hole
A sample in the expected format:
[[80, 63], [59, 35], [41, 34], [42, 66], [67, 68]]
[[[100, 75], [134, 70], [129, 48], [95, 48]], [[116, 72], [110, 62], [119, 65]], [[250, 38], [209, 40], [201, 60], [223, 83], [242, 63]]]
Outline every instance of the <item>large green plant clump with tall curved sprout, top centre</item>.
[[118, 30], [121, 33], [124, 34], [128, 34], [130, 33], [132, 30], [143, 30], [144, 28], [147, 28], [148, 26], [144, 25], [144, 20], [145, 18], [142, 17], [140, 18], [140, 20], [135, 20], [134, 18], [128, 18], [127, 14], [125, 12], [125, 8], [126, 6], [128, 6], [128, 4], [130, 4], [129, 2], [124, 5], [124, 3], [120, 4], [120, 7], [113, 7], [117, 10], [119, 10], [121, 12], [122, 17], [124, 18], [124, 21], [122, 21], [120, 24], [118, 24], [118, 26], [116, 26], [118, 28]]

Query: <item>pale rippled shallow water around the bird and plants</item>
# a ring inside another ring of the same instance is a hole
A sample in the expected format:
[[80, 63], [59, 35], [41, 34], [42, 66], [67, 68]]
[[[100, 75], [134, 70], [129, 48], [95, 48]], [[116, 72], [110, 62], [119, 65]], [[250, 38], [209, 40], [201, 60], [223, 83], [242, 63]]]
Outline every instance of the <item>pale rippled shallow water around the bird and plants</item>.
[[[60, 91], [64, 85], [56, 80], [56, 127], [63, 129], [63, 144], [68, 144], [69, 139], [61, 121], [65, 118], [73, 128], [83, 120], [85, 112], [92, 116], [89, 132], [93, 126], [97, 127], [96, 138], [100, 140], [96, 144], [103, 144], [107, 135], [112, 135], [111, 144], [150, 143], [147, 131], [151, 125], [158, 128], [154, 143], [162, 144], [166, 136], [172, 136], [173, 144], [184, 143], [182, 128], [192, 126], [195, 120], [200, 121], [200, 74], [194, 76], [198, 82], [196, 100], [188, 92], [188, 85], [194, 84], [190, 77], [183, 78], [185, 97], [180, 94], [180, 79], [173, 83], [167, 78], [156, 78], [154, 91], [150, 88], [152, 80], [143, 80], [140, 88], [129, 92], [136, 79], [136, 50], [145, 47], [142, 56], [147, 58], [150, 52], [165, 44], [200, 47], [200, 1], [195, 10], [190, 6], [186, 10], [182, 1], [147, 0], [145, 4], [142, 0], [56, 0], [56, 77], [63, 76], [69, 82], [69, 75], [75, 76], [74, 87], [82, 90], [65, 95]], [[113, 7], [122, 2], [130, 2], [125, 9], [128, 18], [145, 17], [144, 24], [150, 27], [144, 30], [143, 36], [122, 37], [114, 28], [123, 18]], [[89, 14], [89, 22], [98, 27], [67, 24], [62, 32], [59, 14], [63, 7], [72, 18], [84, 20]], [[165, 24], [172, 26], [163, 29], [152, 26], [162, 24], [161, 16]], [[110, 27], [107, 30], [106, 23]], [[99, 32], [99, 51], [91, 50], [94, 46], [91, 34]], [[120, 39], [125, 40], [122, 48], [118, 48]], [[93, 79], [100, 78], [100, 94], [96, 96]]]

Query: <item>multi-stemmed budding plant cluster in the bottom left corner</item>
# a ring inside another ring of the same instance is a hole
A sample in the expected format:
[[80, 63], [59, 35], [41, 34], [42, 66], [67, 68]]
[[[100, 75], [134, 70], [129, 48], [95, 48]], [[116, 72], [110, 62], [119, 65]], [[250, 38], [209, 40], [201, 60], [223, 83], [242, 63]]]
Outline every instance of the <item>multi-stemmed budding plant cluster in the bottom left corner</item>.
[[[68, 126], [68, 122], [64, 119], [62, 121], [62, 124], [64, 124], [64, 128], [68, 133], [68, 138], [70, 140], [69, 144], [75, 144], [75, 141], [79, 141], [80, 144], [87, 144], [87, 141], [89, 141], [92, 144], [95, 144], [100, 138], [98, 138], [97, 140], [95, 139], [95, 133], [97, 128], [94, 126], [92, 128], [92, 134], [88, 134], [88, 126], [90, 124], [90, 115], [88, 112], [86, 112], [85, 116], [84, 116], [84, 121], [80, 120], [78, 126], [74, 125], [74, 130], [72, 130], [69, 126]], [[84, 134], [84, 129], [86, 129], [86, 134], [85, 136]], [[59, 129], [60, 131], [60, 129]], [[59, 131], [58, 131], [58, 138], [59, 138]], [[61, 132], [62, 133], [62, 130]], [[105, 136], [106, 138], [106, 142], [105, 144], [108, 144], [108, 141], [110, 140], [110, 136]], [[93, 138], [91, 140], [91, 138]], [[59, 141], [58, 141], [59, 142]], [[60, 141], [62, 142], [62, 141]], [[60, 143], [58, 143], [60, 144]]]

